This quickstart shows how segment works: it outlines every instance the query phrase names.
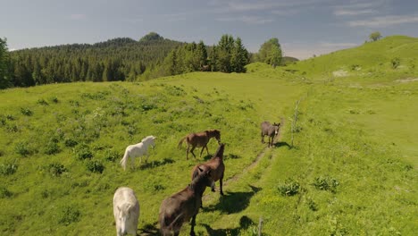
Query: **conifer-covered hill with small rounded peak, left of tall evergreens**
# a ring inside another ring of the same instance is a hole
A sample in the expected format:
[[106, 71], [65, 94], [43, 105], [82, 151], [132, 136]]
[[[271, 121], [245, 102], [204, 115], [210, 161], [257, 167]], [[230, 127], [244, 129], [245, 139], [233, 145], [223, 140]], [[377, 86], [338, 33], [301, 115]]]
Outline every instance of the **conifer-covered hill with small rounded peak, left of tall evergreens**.
[[183, 45], [151, 32], [136, 41], [113, 38], [96, 44], [45, 46], [13, 51], [14, 86], [71, 81], [137, 80]]

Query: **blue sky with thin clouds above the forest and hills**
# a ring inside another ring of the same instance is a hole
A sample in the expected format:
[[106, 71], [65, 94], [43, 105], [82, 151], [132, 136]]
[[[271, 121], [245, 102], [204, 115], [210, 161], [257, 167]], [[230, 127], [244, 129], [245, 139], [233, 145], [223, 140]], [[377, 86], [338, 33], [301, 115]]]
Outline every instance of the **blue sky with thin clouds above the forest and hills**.
[[150, 31], [213, 45], [228, 33], [251, 52], [279, 38], [285, 55], [304, 59], [361, 45], [376, 30], [418, 37], [418, 0], [0, 0], [0, 37], [11, 50]]

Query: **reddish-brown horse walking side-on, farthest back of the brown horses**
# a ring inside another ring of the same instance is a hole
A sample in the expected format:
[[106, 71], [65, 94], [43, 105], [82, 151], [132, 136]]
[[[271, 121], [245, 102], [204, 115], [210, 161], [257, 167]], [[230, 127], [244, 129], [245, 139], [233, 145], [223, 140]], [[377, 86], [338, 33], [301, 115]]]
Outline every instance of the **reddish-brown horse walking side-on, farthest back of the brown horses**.
[[[179, 142], [179, 148], [181, 147], [181, 144], [186, 139], [186, 142], [188, 143], [188, 150], [190, 150], [191, 154], [193, 156], [196, 155], [193, 153], [193, 150], [195, 150], [196, 147], [202, 147], [202, 150], [200, 151], [200, 157], [202, 157], [203, 150], [206, 147], [207, 155], [209, 155], [209, 150], [207, 149], [207, 143], [210, 139], [215, 138], [218, 140], [218, 143], [221, 143], [221, 131], [218, 130], [211, 130], [211, 131], [203, 131], [198, 133], [190, 133], [186, 137], [180, 140]], [[191, 149], [190, 149], [191, 146]], [[188, 150], [186, 151], [186, 160], [188, 159]]]

